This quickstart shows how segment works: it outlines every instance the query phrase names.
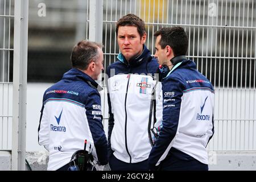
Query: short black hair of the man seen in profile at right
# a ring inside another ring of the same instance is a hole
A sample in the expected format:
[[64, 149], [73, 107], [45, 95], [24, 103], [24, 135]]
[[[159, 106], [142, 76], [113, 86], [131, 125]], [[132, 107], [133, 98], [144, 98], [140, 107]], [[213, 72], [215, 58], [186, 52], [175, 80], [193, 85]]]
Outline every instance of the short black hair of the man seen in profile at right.
[[188, 35], [182, 27], [164, 27], [154, 33], [154, 36], [161, 35], [159, 44], [162, 49], [170, 46], [174, 56], [185, 55], [188, 49]]

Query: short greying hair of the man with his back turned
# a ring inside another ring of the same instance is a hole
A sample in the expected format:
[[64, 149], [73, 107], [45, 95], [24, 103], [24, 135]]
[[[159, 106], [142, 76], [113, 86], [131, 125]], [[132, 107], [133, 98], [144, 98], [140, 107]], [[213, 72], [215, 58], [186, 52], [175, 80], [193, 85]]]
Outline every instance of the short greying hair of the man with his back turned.
[[98, 48], [102, 47], [102, 44], [88, 40], [82, 40], [77, 43], [71, 53], [72, 67], [86, 70], [92, 61], [98, 59], [98, 56], [100, 56]]

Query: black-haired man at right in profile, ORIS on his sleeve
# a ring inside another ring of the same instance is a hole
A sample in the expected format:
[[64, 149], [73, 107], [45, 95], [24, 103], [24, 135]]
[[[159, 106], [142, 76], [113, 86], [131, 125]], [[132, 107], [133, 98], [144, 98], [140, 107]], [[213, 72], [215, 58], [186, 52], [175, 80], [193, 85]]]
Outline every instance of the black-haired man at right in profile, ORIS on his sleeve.
[[207, 144], [214, 133], [214, 89], [184, 55], [182, 27], [156, 31], [155, 57], [163, 90], [163, 121], [150, 152], [151, 170], [208, 170]]

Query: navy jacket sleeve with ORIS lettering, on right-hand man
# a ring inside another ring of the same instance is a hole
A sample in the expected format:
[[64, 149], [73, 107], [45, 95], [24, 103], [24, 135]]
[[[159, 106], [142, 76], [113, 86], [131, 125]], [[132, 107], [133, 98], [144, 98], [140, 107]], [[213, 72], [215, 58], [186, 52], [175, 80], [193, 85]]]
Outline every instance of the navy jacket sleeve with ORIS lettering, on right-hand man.
[[150, 170], [155, 170], [156, 166], [166, 158], [176, 135], [179, 133], [182, 87], [181, 82], [175, 78], [168, 77], [163, 82], [163, 127], [148, 158]]

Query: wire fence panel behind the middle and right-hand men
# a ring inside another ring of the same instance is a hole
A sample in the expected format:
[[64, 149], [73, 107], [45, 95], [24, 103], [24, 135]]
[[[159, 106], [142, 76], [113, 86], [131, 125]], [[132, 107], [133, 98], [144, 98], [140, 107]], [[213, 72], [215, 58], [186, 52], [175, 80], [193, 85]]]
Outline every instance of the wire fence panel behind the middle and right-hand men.
[[[227, 0], [106, 0], [103, 14], [105, 68], [119, 48], [115, 22], [133, 13], [145, 21], [146, 46], [154, 54], [154, 31], [181, 26], [189, 36], [187, 56], [214, 85], [215, 131], [211, 151], [256, 150], [256, 5]], [[104, 85], [105, 86], [105, 85]], [[108, 103], [105, 98], [105, 125]], [[107, 127], [105, 127], [107, 128]]]

